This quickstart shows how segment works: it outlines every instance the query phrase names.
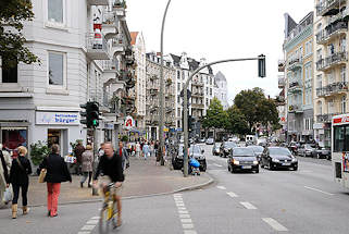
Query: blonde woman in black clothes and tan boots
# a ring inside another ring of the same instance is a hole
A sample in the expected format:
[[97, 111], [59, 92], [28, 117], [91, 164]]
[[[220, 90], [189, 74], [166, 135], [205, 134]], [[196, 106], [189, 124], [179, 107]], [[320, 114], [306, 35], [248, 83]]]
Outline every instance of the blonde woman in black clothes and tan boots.
[[20, 146], [16, 149], [18, 156], [13, 159], [11, 170], [10, 170], [10, 183], [13, 189], [12, 199], [12, 219], [17, 218], [17, 201], [20, 196], [20, 188], [22, 190], [22, 205], [23, 214], [28, 213], [28, 186], [29, 186], [29, 174], [32, 174], [32, 165], [29, 160], [26, 158], [28, 150], [24, 146]]

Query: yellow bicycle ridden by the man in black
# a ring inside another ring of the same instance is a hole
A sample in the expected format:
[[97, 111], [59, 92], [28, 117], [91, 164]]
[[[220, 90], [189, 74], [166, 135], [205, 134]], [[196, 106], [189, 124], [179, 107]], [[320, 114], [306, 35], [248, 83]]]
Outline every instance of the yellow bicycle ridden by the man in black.
[[117, 227], [117, 206], [115, 200], [115, 184], [110, 183], [107, 186], [101, 185], [103, 190], [104, 201], [100, 212], [99, 233], [109, 233], [109, 227], [112, 225], [113, 230]]

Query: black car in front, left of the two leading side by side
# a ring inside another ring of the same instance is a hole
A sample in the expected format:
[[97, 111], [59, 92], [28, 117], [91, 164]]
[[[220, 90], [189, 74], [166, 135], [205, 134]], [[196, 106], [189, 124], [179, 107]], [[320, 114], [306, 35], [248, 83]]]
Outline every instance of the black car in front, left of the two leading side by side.
[[251, 148], [236, 147], [232, 150], [228, 161], [228, 171], [234, 173], [236, 171], [250, 170], [259, 173], [259, 161]]

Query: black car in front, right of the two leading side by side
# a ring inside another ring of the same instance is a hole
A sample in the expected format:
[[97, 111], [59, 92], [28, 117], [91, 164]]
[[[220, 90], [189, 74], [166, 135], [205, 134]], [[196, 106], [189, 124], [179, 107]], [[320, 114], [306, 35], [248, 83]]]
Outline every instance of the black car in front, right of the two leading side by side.
[[261, 167], [274, 169], [294, 169], [298, 170], [298, 160], [289, 149], [283, 147], [266, 147], [262, 153]]

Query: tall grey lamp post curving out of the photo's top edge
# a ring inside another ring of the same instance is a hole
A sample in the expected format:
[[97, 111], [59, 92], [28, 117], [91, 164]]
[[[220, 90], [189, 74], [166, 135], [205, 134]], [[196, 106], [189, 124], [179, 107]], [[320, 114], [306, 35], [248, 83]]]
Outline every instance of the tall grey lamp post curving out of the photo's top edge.
[[163, 19], [162, 19], [162, 26], [161, 26], [161, 39], [160, 39], [160, 98], [159, 98], [159, 102], [160, 102], [160, 120], [159, 120], [159, 139], [160, 139], [160, 146], [159, 146], [159, 157], [161, 160], [161, 165], [164, 165], [164, 156], [163, 156], [163, 149], [164, 149], [164, 97], [163, 97], [163, 90], [164, 90], [164, 77], [163, 77], [163, 32], [164, 32], [164, 27], [165, 27], [165, 20], [166, 20], [166, 14], [167, 14], [167, 10], [169, 10], [169, 5], [171, 3], [171, 0], [169, 0], [167, 4], [166, 4], [166, 9], [165, 12], [163, 14]]

